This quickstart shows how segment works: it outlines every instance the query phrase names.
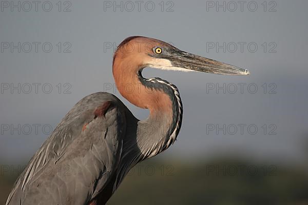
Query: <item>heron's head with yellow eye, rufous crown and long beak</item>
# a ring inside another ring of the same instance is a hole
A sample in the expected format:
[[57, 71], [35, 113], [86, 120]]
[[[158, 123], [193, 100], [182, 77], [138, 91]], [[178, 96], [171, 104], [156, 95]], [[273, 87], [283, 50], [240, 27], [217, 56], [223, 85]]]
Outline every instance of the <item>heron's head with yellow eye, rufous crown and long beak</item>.
[[[120, 56], [121, 57], [120, 57]], [[248, 75], [249, 71], [217, 60], [181, 51], [158, 39], [131, 36], [123, 40], [114, 54], [136, 65], [163, 70], [199, 71], [223, 75]]]

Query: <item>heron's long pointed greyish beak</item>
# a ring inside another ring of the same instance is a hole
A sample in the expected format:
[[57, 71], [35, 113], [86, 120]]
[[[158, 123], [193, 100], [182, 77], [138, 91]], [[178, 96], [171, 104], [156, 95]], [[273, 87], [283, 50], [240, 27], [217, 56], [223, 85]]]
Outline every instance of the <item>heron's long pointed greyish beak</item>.
[[173, 53], [171, 58], [172, 66], [221, 75], [248, 75], [250, 72], [246, 69], [238, 68], [229, 64], [219, 62], [217, 60], [201, 57], [195, 54], [178, 51]]

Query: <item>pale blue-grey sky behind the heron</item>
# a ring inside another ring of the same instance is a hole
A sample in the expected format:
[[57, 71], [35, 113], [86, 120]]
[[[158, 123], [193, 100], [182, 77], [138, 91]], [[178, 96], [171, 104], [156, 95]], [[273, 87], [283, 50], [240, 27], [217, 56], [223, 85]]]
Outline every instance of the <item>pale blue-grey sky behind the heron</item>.
[[[28, 9], [25, 4], [20, 12], [16, 8], [10, 11], [11, 5], [9, 8], [3, 5], [0, 12], [3, 49], [0, 52], [0, 83], [2, 86], [17, 86], [20, 83], [24, 89], [30, 84], [32, 91], [30, 94], [18, 94], [13, 90], [11, 94], [8, 89], [0, 93], [0, 124], [3, 127], [11, 124], [15, 127], [18, 124], [54, 127], [82, 97], [104, 91], [104, 84], [113, 84], [113, 48], [106, 49], [104, 44], [118, 45], [127, 36], [144, 35], [171, 42], [181, 50], [251, 71], [249, 76], [220, 76], [146, 69], [146, 77], [159, 76], [177, 85], [184, 106], [178, 141], [163, 156], [182, 158], [188, 157], [187, 154], [202, 157], [236, 154], [273, 164], [304, 164], [308, 143], [307, 1], [281, 0], [275, 1], [276, 4], [267, 1], [266, 12], [264, 5], [261, 5], [263, 1], [258, 1], [255, 12], [249, 11], [253, 7], [247, 8], [250, 1], [244, 5], [242, 12], [240, 8], [234, 12], [228, 11], [228, 8], [223, 12], [220, 8], [217, 12], [216, 8], [207, 8], [210, 1], [165, 1], [163, 12], [161, 4], [153, 2], [155, 9], [149, 12], [147, 10], [151, 9], [151, 5], [148, 2], [143, 2], [140, 12], [136, 3], [131, 12], [128, 11], [130, 5], [125, 6], [125, 3], [123, 12], [121, 8], [116, 8], [114, 12], [113, 8], [106, 7], [104, 11], [104, 1], [74, 1], [71, 5], [63, 1], [61, 12], [56, 1], [51, 1], [53, 7], [49, 12], [44, 11], [41, 4], [37, 12], [34, 5], [28, 12], [23, 11]], [[105, 1], [106, 5], [109, 3]], [[120, 1], [117, 4], [120, 5]], [[71, 11], [63, 12], [66, 7]], [[169, 7], [174, 11], [166, 12]], [[277, 11], [268, 12], [273, 7]], [[15, 46], [21, 42], [24, 47], [21, 46], [21, 53], [16, 48], [11, 52], [10, 48], [6, 48], [6, 42]], [[27, 42], [32, 45], [29, 53], [25, 52], [28, 50]], [[37, 53], [33, 42], [41, 43]], [[213, 43], [223, 45], [224, 42], [230, 46], [226, 52], [208, 48]], [[234, 44], [240, 45], [239, 42], [245, 42], [243, 52], [240, 47], [230, 52]], [[45, 50], [48, 50], [49, 44], [52, 45], [51, 52], [43, 51], [44, 43], [47, 43]], [[257, 51], [249, 52], [248, 44], [257, 45]], [[64, 53], [66, 48], [71, 52]], [[276, 53], [269, 52], [271, 49]], [[49, 83], [51, 93], [46, 94], [42, 87], [38, 87], [36, 94], [33, 91], [35, 83]], [[216, 86], [217, 83], [218, 86], [225, 83], [228, 88], [234, 84], [253, 84], [258, 92], [249, 93], [247, 87], [244, 87], [243, 93], [207, 92], [209, 86]], [[61, 94], [59, 87], [62, 88]], [[65, 89], [71, 93], [63, 94]], [[276, 94], [268, 93], [271, 89]], [[130, 105], [118, 92], [115, 95], [137, 117], [147, 117], [146, 110]], [[243, 135], [239, 131], [234, 135], [217, 135], [216, 131], [207, 134], [206, 125], [209, 124], [220, 127], [224, 124], [256, 125], [258, 132], [255, 135], [247, 130]], [[267, 126], [266, 135], [262, 128], [264, 124]], [[268, 128], [271, 125], [276, 126], [276, 135], [268, 135], [273, 129]], [[0, 161], [28, 160], [48, 137], [42, 130], [38, 130], [38, 134], [32, 130], [30, 135], [2, 131]]]

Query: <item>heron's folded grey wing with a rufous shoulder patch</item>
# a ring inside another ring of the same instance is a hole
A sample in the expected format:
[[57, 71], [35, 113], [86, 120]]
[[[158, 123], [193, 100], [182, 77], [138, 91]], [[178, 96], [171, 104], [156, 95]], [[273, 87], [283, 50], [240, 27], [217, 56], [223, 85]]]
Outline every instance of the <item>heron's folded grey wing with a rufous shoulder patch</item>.
[[103, 92], [80, 100], [32, 157], [6, 205], [91, 201], [118, 167], [126, 131], [124, 107]]

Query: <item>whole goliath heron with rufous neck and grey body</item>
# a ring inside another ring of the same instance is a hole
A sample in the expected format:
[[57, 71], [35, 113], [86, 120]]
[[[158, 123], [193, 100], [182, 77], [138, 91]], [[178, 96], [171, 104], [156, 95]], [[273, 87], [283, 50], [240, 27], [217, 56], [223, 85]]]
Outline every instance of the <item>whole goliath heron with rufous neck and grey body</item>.
[[[149, 109], [149, 117], [137, 119], [110, 93], [84, 97], [32, 157], [6, 205], [105, 204], [133, 166], [169, 148], [181, 128], [180, 94], [166, 80], [144, 78], [141, 72], [145, 67], [249, 74], [248, 70], [181, 51], [161, 40], [126, 38], [113, 56], [115, 85], [130, 103]], [[128, 84], [136, 87], [129, 92], [121, 89]], [[147, 132], [147, 126], [155, 132]]]

